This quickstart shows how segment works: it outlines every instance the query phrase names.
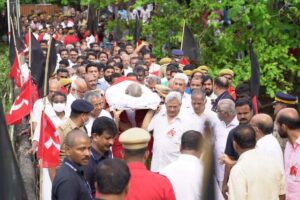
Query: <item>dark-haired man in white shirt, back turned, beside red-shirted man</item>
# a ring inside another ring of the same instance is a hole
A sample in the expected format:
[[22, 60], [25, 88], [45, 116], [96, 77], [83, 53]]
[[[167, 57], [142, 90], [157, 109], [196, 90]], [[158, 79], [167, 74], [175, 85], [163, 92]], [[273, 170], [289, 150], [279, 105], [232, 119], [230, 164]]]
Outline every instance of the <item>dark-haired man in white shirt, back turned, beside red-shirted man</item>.
[[197, 131], [187, 131], [181, 137], [179, 158], [163, 168], [160, 174], [165, 175], [172, 183], [176, 199], [201, 199], [203, 165], [200, 161], [202, 135]]

